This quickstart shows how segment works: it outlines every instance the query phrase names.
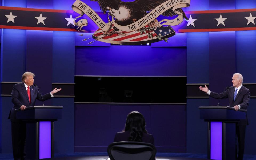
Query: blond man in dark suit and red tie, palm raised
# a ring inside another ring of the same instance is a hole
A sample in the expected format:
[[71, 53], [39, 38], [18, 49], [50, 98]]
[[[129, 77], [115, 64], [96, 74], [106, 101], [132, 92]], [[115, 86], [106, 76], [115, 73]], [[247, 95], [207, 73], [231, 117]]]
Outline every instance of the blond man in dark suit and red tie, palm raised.
[[11, 136], [13, 145], [13, 158], [23, 160], [26, 158], [25, 141], [26, 141], [26, 123], [16, 119], [15, 109], [25, 110], [28, 106], [34, 106], [36, 99], [42, 101], [53, 97], [60, 89], [54, 89], [50, 93], [41, 95], [38, 88], [33, 85], [34, 73], [25, 72], [22, 75], [22, 83], [15, 84], [11, 92], [12, 107], [9, 118], [11, 119]]

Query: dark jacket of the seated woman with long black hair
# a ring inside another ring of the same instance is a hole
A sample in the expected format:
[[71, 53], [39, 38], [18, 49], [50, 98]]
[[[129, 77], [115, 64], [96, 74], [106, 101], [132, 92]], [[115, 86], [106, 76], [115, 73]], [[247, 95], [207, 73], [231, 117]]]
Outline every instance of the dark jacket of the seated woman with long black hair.
[[[129, 137], [130, 137], [130, 132], [129, 131], [117, 132], [115, 134], [114, 142], [128, 141]], [[151, 143], [151, 144], [154, 145], [154, 137], [153, 137], [153, 135], [152, 134], [143, 133], [142, 142]]]

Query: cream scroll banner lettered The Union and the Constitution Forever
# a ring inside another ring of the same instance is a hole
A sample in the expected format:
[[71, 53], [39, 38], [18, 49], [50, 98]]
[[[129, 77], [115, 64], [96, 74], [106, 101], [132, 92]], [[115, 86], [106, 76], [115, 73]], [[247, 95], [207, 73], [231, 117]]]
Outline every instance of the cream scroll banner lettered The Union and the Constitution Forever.
[[[183, 21], [183, 15], [179, 11], [176, 11], [178, 8], [185, 8], [190, 6], [190, 0], [169, 0], [161, 5], [155, 7], [152, 11], [150, 11], [147, 15], [145, 15], [143, 18], [139, 19], [138, 21], [127, 25], [127, 26], [121, 26], [115, 23], [114, 17], [112, 16], [112, 23], [113, 25], [118, 28], [121, 31], [126, 31], [126, 32], [131, 32], [138, 30], [142, 27], [145, 27], [148, 25], [150, 22], [152, 22], [155, 18], [157, 18], [159, 15], [164, 13], [165, 11], [172, 9], [175, 13], [178, 14], [178, 17], [180, 18], [180, 21], [176, 21], [175, 19], [163, 19], [162, 21], [158, 22], [159, 26], [162, 25], [169, 25], [169, 26], [175, 26], [178, 25]], [[81, 16], [83, 14], [86, 14], [89, 18], [91, 18], [94, 23], [103, 31], [107, 32], [110, 29], [110, 23], [106, 24], [105, 22], [102, 21], [102, 19], [97, 15], [95, 11], [93, 11], [88, 5], [86, 5], [84, 2], [77, 0], [74, 2], [72, 5], [72, 9], [80, 14]], [[80, 16], [80, 17], [81, 17]], [[77, 17], [76, 17], [77, 18]], [[162, 23], [163, 22], [163, 23]], [[162, 23], [162, 24], [160, 24]]]

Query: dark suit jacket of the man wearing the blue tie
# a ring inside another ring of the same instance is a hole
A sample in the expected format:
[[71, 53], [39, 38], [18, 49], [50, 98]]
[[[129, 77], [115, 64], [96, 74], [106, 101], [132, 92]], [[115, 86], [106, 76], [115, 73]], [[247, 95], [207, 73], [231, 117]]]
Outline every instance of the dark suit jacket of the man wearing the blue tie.
[[[223, 93], [223, 95], [222, 95]], [[213, 98], [217, 98], [219, 99], [221, 97], [221, 99], [223, 98], [229, 98], [229, 106], [230, 107], [234, 107], [236, 105], [240, 105], [240, 109], [247, 109], [248, 105], [249, 105], [249, 100], [250, 100], [250, 90], [244, 86], [241, 87], [241, 89], [239, 90], [239, 92], [237, 93], [237, 96], [235, 97], [235, 101], [234, 101], [234, 93], [235, 93], [235, 87], [229, 87], [229, 89], [227, 89], [226, 91], [222, 92], [222, 93], [215, 93], [211, 91], [210, 96]], [[247, 120], [247, 113], [246, 113], [246, 120], [241, 120], [240, 122], [237, 123], [237, 125], [242, 125], [245, 126], [248, 124], [248, 120]]]

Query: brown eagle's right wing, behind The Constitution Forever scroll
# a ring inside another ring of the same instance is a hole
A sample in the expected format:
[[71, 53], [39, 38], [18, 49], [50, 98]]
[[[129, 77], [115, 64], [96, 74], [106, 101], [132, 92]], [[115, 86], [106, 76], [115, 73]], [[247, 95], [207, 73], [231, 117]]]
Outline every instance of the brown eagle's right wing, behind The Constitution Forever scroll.
[[[134, 4], [134, 7], [140, 8], [144, 12], [148, 12], [148, 11], [153, 10], [155, 7], [161, 5], [164, 2], [166, 2], [166, 0], [135, 0], [132, 3]], [[169, 9], [169, 10], [165, 11], [162, 15], [175, 16], [177, 14], [173, 10]]]

